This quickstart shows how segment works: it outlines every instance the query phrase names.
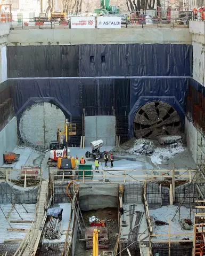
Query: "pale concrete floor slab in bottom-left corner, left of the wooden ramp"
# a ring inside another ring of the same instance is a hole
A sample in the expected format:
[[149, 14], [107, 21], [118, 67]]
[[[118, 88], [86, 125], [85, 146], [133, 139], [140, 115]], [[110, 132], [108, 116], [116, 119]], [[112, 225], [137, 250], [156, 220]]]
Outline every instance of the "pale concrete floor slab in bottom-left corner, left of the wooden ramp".
[[[23, 205], [26, 210], [22, 207], [21, 204], [15, 204], [15, 208], [19, 212], [20, 216], [23, 220], [33, 220], [35, 216], [35, 204], [24, 204]], [[13, 208], [12, 204], [0, 204], [7, 220], [21, 220], [20, 216], [18, 215], [17, 211]], [[7, 228], [14, 228], [14, 229], [29, 229], [31, 223], [9, 223], [6, 221], [5, 216], [2, 211], [0, 211], [0, 243], [3, 243], [4, 240], [7, 239], [23, 239], [26, 236], [27, 232], [20, 232], [20, 231], [9, 231]]]

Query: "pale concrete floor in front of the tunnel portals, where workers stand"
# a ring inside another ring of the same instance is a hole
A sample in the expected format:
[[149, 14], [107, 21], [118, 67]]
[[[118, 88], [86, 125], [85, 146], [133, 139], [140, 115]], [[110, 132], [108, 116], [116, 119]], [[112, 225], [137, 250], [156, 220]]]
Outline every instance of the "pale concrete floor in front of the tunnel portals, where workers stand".
[[[107, 146], [106, 148], [103, 148], [102, 151], [108, 150], [109, 152], [112, 151], [112, 147]], [[91, 151], [91, 148], [86, 147], [85, 149], [79, 149], [79, 148], [70, 148], [70, 154], [73, 157], [78, 156], [80, 158], [81, 156], [85, 156], [86, 151]], [[20, 169], [22, 165], [41, 165], [42, 166], [42, 172], [43, 172], [43, 178], [48, 179], [48, 167], [47, 167], [47, 161], [50, 157], [50, 152], [48, 150], [43, 149], [32, 149], [26, 146], [17, 146], [13, 152], [20, 153], [20, 159], [17, 162], [14, 162], [12, 165], [6, 165], [4, 164], [3, 167], [12, 167], [13, 169]], [[86, 159], [86, 158], [85, 158]], [[154, 159], [154, 160], [153, 160]], [[86, 162], [88, 164], [93, 165], [94, 167], [94, 158], [88, 158], [86, 159]], [[187, 148], [183, 152], [178, 152], [175, 156], [170, 158], [166, 161], [161, 161], [161, 164], [156, 164], [155, 158], [150, 156], [134, 156], [131, 154], [127, 154], [122, 156], [120, 153], [115, 154], [115, 160], [114, 160], [114, 167], [111, 168], [110, 162], [108, 162], [108, 168], [105, 168], [104, 159], [100, 159], [100, 169], [104, 169], [106, 171], [105, 179], [110, 180], [110, 175], [120, 175], [116, 177], [112, 177], [112, 181], [124, 181], [124, 170], [131, 170], [129, 175], [126, 175], [125, 181], [137, 181], [142, 180], [144, 177], [146, 177], [146, 174], [150, 174], [150, 172], [146, 172], [146, 170], [151, 169], [172, 169], [173, 164], [175, 163], [175, 170], [177, 169], [189, 169], [194, 168], [194, 161], [192, 157], [190, 156], [190, 153], [188, 152]], [[135, 170], [142, 170], [142, 172], [136, 172]], [[103, 173], [95, 173], [95, 175], [99, 175], [97, 177], [93, 177], [93, 180], [96, 182], [103, 179]], [[157, 175], [157, 173], [154, 173]], [[133, 175], [144, 175], [144, 177], [132, 177]], [[12, 179], [17, 179], [19, 176], [19, 173], [12, 174]]]

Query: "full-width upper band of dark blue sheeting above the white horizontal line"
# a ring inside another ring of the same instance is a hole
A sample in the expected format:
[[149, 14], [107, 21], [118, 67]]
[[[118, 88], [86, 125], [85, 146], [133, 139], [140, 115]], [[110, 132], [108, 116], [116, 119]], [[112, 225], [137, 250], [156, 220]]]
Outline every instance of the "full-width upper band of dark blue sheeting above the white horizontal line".
[[7, 76], [191, 76], [192, 45], [7, 46]]

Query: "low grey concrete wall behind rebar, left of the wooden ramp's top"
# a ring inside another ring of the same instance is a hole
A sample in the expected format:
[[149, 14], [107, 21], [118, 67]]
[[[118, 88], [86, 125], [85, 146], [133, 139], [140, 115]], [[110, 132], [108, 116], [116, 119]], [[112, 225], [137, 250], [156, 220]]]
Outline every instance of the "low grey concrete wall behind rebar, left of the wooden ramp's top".
[[1, 182], [0, 204], [10, 204], [10, 200], [13, 204], [36, 203], [37, 193], [38, 186], [24, 189], [10, 182]]

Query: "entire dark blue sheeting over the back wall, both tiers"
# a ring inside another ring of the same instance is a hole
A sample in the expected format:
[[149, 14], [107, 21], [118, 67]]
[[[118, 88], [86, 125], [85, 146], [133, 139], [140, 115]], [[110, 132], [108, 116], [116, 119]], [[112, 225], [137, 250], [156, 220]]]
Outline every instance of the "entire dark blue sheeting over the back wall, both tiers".
[[7, 59], [8, 77], [17, 79], [8, 82], [18, 120], [33, 103], [50, 102], [79, 124], [83, 109], [85, 115], [115, 115], [121, 138], [133, 136], [138, 108], [159, 100], [172, 105], [183, 122], [192, 45], [8, 46]]

